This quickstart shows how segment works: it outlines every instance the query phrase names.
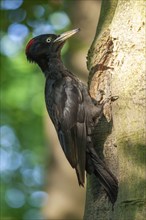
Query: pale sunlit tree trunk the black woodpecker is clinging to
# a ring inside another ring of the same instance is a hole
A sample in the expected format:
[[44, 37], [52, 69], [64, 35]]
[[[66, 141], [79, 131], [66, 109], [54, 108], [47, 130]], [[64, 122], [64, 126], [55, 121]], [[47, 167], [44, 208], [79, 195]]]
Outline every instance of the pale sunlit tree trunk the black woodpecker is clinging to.
[[[97, 178], [88, 176], [84, 220], [143, 220], [145, 198], [145, 0], [103, 0], [89, 50], [89, 91], [103, 99], [96, 129], [97, 152], [119, 180], [114, 210]], [[112, 109], [111, 109], [112, 105]], [[108, 122], [107, 122], [108, 121]]]

